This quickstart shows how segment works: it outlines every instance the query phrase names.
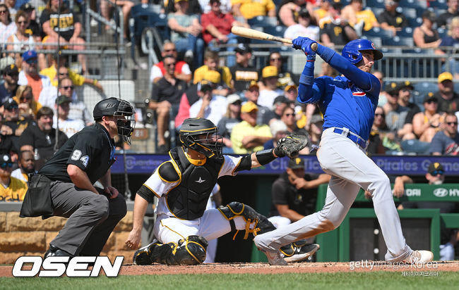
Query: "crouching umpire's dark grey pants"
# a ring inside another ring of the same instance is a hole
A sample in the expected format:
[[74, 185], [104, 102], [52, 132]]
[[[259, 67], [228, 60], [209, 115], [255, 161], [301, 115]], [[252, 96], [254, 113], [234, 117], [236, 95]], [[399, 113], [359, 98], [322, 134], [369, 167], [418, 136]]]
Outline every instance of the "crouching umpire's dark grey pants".
[[77, 189], [67, 182], [51, 183], [54, 215], [68, 220], [49, 244], [75, 256], [99, 256], [114, 227], [126, 215], [126, 201]]

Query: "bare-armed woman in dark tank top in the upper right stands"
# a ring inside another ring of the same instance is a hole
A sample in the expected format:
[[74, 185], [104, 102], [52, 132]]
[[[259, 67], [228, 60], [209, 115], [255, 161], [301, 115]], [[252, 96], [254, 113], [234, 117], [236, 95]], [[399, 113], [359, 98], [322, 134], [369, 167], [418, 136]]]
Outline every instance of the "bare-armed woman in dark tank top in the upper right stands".
[[429, 10], [422, 13], [422, 25], [413, 30], [415, 46], [421, 49], [435, 49], [439, 47], [441, 39], [439, 32], [432, 28], [436, 19], [435, 13]]

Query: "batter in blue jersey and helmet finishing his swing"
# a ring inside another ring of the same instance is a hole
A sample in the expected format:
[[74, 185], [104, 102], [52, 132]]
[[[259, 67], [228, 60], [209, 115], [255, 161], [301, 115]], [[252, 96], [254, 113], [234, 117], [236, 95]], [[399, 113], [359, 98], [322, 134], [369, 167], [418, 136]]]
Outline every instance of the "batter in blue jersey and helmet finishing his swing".
[[[412, 251], [405, 243], [389, 179], [366, 156], [367, 140], [381, 89], [378, 79], [370, 71], [374, 61], [383, 58], [383, 53], [367, 39], [347, 43], [342, 49], [342, 56], [320, 44], [313, 51], [311, 44], [316, 42], [307, 37], [297, 37], [292, 43], [294, 49], [302, 49], [306, 54], [297, 100], [317, 103], [323, 113], [323, 134], [317, 158], [323, 171], [332, 177], [326, 205], [321, 211], [256, 236], [256, 246], [263, 251], [278, 251], [280, 246], [292, 241], [335, 229], [344, 220], [362, 187], [373, 198], [374, 210], [388, 248], [386, 260], [406, 263], [432, 260], [433, 253], [430, 251]], [[316, 53], [342, 76], [314, 79]]]

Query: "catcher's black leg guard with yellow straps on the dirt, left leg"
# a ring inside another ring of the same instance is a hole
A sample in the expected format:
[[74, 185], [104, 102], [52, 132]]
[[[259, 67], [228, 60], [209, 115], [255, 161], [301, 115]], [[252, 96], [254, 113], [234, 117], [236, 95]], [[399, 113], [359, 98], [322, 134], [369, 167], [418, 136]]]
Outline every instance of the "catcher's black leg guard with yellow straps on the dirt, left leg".
[[151, 248], [152, 262], [166, 265], [198, 265], [205, 260], [208, 242], [200, 236], [189, 236], [178, 244], [156, 244]]

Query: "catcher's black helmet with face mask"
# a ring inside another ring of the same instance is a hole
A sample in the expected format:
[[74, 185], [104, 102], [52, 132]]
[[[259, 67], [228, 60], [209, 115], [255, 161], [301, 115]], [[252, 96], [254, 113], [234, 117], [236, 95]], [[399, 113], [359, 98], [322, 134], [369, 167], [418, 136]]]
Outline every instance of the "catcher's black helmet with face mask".
[[218, 127], [203, 118], [188, 118], [180, 127], [181, 143], [206, 157], [222, 158], [222, 137], [217, 137]]

